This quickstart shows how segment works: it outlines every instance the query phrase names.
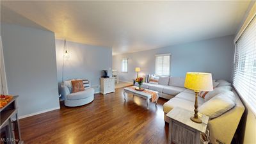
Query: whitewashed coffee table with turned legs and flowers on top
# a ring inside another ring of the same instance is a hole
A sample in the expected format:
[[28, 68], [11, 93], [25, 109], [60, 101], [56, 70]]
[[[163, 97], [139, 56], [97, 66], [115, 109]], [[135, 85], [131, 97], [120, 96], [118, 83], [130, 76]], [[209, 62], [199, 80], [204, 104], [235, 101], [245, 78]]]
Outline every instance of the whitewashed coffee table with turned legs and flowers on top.
[[[138, 88], [137, 86], [134, 86], [135, 88]], [[159, 98], [159, 96], [158, 96], [158, 92], [156, 92], [156, 91], [154, 91], [154, 90], [148, 90], [147, 89], [147, 91], [150, 91], [150, 92], [154, 92], [154, 93], [156, 93], [156, 95], [157, 95], [157, 100], [158, 100], [158, 98]], [[143, 92], [143, 91], [137, 91], [137, 90], [133, 90], [132, 88], [124, 88], [124, 100], [126, 101], [126, 95], [127, 95], [127, 93], [132, 93], [133, 94], [133, 96], [134, 95], [136, 95], [136, 96], [138, 96], [138, 97], [141, 97], [141, 98], [143, 98], [143, 99], [146, 99], [147, 100], [147, 109], [148, 109], [148, 106], [149, 106], [149, 100], [151, 99], [151, 94], [150, 93], [145, 93], [145, 92]], [[157, 100], [156, 100], [156, 104], [157, 104]]]

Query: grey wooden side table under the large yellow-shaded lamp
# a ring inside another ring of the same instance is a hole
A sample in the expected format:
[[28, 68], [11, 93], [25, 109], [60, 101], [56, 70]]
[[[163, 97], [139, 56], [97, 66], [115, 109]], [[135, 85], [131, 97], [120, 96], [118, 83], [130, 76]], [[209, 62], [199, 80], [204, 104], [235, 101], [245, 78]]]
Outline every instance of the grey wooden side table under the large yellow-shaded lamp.
[[194, 115], [193, 111], [188, 111], [175, 107], [166, 114], [170, 118], [168, 143], [172, 144], [199, 144], [200, 133], [206, 131], [209, 116], [201, 115], [202, 123], [198, 124], [190, 120]]

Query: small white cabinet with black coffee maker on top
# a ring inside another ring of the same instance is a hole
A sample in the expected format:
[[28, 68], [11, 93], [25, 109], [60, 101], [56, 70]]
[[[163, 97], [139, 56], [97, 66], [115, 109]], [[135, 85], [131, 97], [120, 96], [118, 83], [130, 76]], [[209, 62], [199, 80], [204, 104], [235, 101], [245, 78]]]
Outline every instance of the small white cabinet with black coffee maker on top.
[[106, 93], [115, 92], [115, 78], [100, 78], [100, 93], [105, 95]]

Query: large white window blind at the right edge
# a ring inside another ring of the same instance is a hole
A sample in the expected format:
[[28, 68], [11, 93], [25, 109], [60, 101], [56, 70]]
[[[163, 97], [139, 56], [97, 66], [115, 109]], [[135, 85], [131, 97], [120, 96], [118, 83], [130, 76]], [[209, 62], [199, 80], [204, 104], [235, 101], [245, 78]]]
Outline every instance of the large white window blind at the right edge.
[[256, 115], [256, 18], [236, 42], [233, 86]]

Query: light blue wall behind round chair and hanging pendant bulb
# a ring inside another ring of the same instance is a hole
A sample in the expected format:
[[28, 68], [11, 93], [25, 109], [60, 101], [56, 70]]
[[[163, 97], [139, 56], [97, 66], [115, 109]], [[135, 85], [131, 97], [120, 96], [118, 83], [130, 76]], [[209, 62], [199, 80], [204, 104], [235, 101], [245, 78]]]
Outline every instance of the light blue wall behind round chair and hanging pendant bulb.
[[[102, 70], [108, 70], [109, 76], [111, 76], [111, 48], [67, 42], [67, 51], [70, 58], [65, 60], [64, 80], [88, 78], [92, 86], [99, 86]], [[58, 82], [60, 84], [62, 80], [63, 40], [56, 40], [56, 58]], [[95, 91], [99, 92], [99, 88]]]

